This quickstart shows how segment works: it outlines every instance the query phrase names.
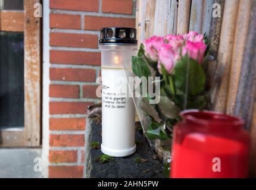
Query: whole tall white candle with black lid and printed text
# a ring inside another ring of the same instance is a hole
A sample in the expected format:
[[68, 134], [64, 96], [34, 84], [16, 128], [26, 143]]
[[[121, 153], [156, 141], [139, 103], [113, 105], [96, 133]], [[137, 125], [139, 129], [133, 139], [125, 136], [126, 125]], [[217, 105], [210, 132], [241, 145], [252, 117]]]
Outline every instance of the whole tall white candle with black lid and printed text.
[[[108, 33], [108, 31], [110, 31]], [[120, 34], [125, 31], [123, 38]], [[121, 33], [120, 33], [121, 32]], [[135, 105], [128, 97], [127, 77], [133, 76], [132, 55], [135, 55], [135, 29], [105, 28], [101, 30], [102, 75], [102, 144], [104, 154], [129, 156], [136, 151]], [[122, 83], [123, 82], [123, 83]]]

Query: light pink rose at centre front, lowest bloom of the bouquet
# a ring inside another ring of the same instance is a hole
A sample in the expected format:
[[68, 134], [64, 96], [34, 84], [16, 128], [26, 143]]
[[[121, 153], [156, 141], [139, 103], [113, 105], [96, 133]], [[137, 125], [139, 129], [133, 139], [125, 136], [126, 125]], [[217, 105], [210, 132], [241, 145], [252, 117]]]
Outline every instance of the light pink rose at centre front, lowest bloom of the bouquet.
[[159, 52], [158, 70], [161, 73], [161, 64], [163, 64], [166, 71], [170, 74], [176, 62], [180, 59], [179, 52], [174, 50], [173, 46], [170, 44], [165, 44], [162, 46]]

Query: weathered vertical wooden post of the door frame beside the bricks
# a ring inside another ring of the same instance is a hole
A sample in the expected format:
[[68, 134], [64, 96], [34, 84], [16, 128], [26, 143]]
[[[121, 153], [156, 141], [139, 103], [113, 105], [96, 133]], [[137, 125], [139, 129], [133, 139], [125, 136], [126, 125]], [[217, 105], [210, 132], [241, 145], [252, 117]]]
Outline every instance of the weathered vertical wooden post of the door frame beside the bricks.
[[40, 145], [40, 18], [34, 17], [36, 3], [39, 0], [24, 1], [24, 132], [27, 147]]

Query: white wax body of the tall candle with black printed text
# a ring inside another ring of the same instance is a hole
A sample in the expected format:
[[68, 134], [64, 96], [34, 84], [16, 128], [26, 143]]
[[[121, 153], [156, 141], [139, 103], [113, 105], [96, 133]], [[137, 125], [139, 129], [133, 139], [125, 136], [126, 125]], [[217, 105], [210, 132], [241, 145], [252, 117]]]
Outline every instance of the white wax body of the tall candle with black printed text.
[[[110, 78], [126, 78], [122, 68], [102, 67], [102, 144], [104, 154], [129, 156], [136, 151], [135, 106], [132, 97], [120, 94]], [[130, 72], [132, 75], [132, 72]], [[127, 84], [125, 84], [127, 85]], [[127, 93], [128, 94], [128, 93]], [[119, 98], [119, 99], [118, 99]], [[121, 98], [121, 99], [120, 99]], [[118, 99], [118, 100], [116, 100]]]

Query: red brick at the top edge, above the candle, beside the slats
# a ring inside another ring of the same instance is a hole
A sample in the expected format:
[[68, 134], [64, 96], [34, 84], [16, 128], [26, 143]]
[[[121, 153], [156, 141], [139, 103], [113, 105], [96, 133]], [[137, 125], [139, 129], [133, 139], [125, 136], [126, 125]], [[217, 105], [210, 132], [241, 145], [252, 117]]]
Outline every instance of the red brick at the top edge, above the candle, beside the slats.
[[133, 0], [102, 0], [102, 12], [133, 14]]

